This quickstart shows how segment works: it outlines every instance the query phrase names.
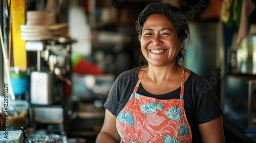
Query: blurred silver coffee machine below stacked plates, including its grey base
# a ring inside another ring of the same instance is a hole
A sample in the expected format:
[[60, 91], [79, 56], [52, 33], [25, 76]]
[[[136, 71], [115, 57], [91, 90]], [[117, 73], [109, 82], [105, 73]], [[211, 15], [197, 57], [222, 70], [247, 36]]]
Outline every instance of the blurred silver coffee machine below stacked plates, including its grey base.
[[36, 54], [30, 74], [30, 121], [62, 124], [63, 106], [71, 89], [71, 43], [66, 37], [27, 41], [26, 50]]

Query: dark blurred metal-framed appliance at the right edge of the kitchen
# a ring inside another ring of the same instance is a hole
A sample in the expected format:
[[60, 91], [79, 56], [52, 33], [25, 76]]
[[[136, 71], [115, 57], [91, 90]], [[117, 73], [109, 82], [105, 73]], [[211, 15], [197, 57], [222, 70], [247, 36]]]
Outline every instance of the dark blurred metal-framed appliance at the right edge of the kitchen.
[[256, 132], [256, 77], [226, 75], [224, 118], [244, 132]]

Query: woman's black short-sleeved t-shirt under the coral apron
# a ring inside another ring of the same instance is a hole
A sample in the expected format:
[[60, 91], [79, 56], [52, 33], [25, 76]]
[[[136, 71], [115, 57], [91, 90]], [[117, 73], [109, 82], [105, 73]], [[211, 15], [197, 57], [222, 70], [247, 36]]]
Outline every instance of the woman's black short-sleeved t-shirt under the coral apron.
[[[124, 71], [114, 82], [108, 99], [104, 103], [104, 107], [113, 115], [117, 116], [128, 102], [139, 80], [139, 70], [140, 67]], [[161, 100], [179, 99], [180, 87], [166, 94], [154, 95], [144, 90], [140, 84], [137, 93]], [[198, 124], [203, 124], [220, 117], [223, 114], [220, 104], [210, 83], [193, 71], [191, 71], [188, 79], [185, 81], [183, 99], [185, 113], [192, 132], [192, 142], [201, 142]]]

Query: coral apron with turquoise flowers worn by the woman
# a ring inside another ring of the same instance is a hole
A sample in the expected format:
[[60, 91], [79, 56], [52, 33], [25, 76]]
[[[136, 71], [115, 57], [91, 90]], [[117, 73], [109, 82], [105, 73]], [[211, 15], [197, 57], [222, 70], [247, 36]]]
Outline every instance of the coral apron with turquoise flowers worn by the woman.
[[[184, 110], [184, 70], [180, 99], [160, 100], [136, 93], [144, 72], [116, 119], [121, 142], [191, 142]], [[156, 89], [161, 90], [161, 89]]]

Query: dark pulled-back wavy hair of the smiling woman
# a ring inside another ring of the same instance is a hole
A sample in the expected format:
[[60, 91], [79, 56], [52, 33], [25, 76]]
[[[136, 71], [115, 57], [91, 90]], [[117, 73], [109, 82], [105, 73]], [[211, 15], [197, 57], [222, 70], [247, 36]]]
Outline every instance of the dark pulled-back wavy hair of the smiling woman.
[[[152, 14], [163, 14], [170, 21], [178, 33], [178, 37], [183, 40], [182, 49], [179, 51], [176, 62], [183, 62], [185, 60], [186, 50], [184, 49], [184, 40], [189, 36], [189, 26], [186, 17], [182, 14], [179, 8], [170, 5], [168, 3], [152, 3], [147, 5], [144, 10], [139, 14], [138, 20], [135, 22], [136, 32], [139, 34], [139, 40], [141, 38], [142, 28], [144, 22], [148, 16]], [[147, 65], [147, 61], [142, 55], [141, 51], [136, 52], [136, 57], [139, 60], [139, 65]]]

